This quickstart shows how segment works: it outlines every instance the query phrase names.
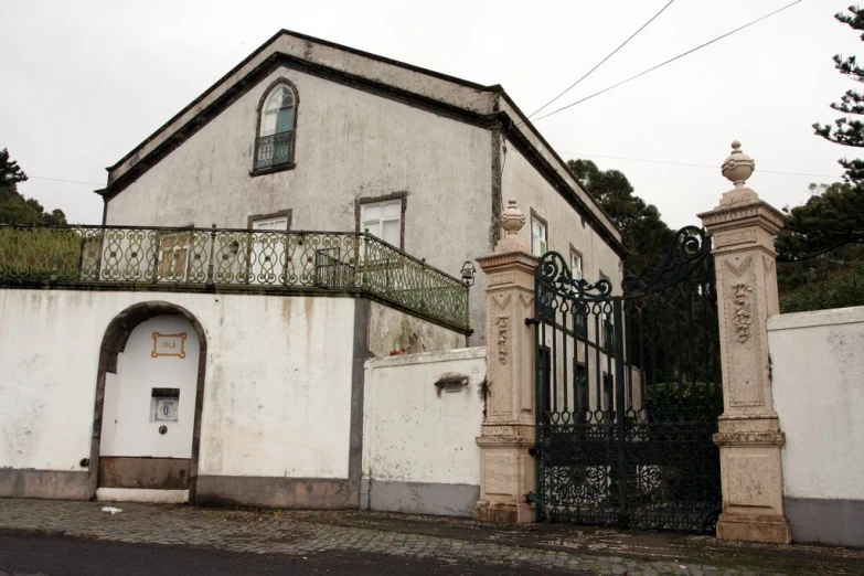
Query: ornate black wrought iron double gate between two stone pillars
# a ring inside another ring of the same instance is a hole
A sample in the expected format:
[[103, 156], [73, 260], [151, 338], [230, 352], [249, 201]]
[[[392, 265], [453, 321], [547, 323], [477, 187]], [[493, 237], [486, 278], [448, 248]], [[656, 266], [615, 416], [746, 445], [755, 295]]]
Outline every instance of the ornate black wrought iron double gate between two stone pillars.
[[548, 253], [535, 276], [540, 520], [713, 531], [723, 412], [711, 239], [679, 231], [661, 267], [574, 278]]

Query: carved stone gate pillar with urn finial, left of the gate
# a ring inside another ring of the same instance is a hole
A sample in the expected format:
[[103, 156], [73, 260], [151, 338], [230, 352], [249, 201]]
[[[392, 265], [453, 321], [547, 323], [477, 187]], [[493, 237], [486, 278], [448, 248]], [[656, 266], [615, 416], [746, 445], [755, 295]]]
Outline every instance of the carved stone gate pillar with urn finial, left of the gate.
[[534, 504], [525, 501], [536, 490], [534, 447], [534, 269], [537, 258], [516, 237], [525, 215], [510, 200], [501, 216], [506, 235], [489, 256], [478, 258], [487, 278], [486, 418], [477, 438], [480, 446], [479, 520], [534, 522]]

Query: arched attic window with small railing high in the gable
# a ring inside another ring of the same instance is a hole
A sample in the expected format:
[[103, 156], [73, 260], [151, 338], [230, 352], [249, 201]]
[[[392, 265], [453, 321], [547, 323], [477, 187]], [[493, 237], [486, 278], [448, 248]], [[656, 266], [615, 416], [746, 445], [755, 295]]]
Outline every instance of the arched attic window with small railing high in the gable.
[[258, 106], [258, 135], [253, 172], [294, 166], [297, 93], [279, 81], [267, 90]]

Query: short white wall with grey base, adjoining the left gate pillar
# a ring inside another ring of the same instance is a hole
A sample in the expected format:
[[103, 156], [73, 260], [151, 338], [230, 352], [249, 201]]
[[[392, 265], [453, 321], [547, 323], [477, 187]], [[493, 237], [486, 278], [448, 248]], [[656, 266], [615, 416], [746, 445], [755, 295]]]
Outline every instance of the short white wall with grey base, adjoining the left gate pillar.
[[[467, 376], [456, 392], [442, 376]], [[361, 505], [470, 515], [480, 495], [486, 348], [367, 360]]]

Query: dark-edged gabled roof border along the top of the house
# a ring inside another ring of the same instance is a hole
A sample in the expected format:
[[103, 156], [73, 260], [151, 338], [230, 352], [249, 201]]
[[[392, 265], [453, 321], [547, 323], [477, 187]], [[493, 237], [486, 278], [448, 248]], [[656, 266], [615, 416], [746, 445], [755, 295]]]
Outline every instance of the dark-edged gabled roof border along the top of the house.
[[597, 232], [623, 254], [620, 233], [573, 178], [500, 85], [483, 86], [349, 46], [280, 30], [243, 62], [180, 110], [117, 163], [107, 168], [108, 185], [96, 193], [110, 200], [150, 167], [191, 137], [274, 67], [289, 65], [344, 84], [409, 102], [455, 119], [500, 127], [529, 161], [570, 203], [582, 209]]

